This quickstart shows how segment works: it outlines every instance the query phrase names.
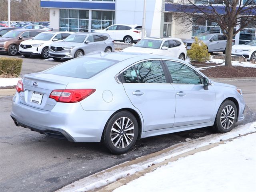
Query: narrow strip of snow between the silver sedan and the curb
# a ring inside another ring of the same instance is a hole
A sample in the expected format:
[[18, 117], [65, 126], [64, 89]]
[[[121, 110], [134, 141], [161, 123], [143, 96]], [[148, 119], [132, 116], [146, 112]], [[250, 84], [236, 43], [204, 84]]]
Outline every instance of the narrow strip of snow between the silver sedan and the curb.
[[[205, 136], [203, 138], [198, 138], [198, 139], [193, 139], [193, 140], [186, 139], [187, 142], [183, 142], [182, 146], [176, 147], [175, 149], [172, 149], [169, 152], [166, 152], [164, 154], [161, 154], [161, 155], [153, 157], [153, 158], [149, 158], [149, 159], [142, 161], [140, 163], [137, 163], [137, 164], [132, 164], [129, 166], [122, 166], [121, 168], [118, 168], [111, 172], [108, 171], [109, 169], [103, 170], [102, 172], [100, 172], [100, 176], [97, 174], [88, 176], [86, 178], [83, 178], [81, 180], [73, 182], [72, 184], [57, 190], [57, 192], [71, 192], [71, 191], [72, 192], [84, 192], [84, 191], [94, 190], [95, 188], [100, 188], [100, 187], [110, 184], [120, 178], [124, 178], [128, 174], [130, 175], [130, 174], [134, 174], [138, 171], [144, 170], [150, 164], [157, 164], [157, 163], [163, 162], [166, 159], [169, 159], [169, 158], [172, 158], [179, 154], [193, 150], [194, 148], [199, 148], [201, 146], [207, 146], [210, 143], [216, 143], [216, 142], [219, 142], [220, 140], [227, 140], [230, 138], [234, 138], [234, 137], [237, 137], [237, 136], [240, 136], [243, 134], [247, 134], [247, 133], [251, 133], [251, 132], [255, 132], [255, 131], [256, 131], [256, 122], [252, 122], [252, 123], [248, 123], [245, 125], [237, 126], [237, 127], [233, 128], [233, 130], [231, 132], [228, 132], [225, 134], [211, 134], [211, 135]], [[253, 146], [247, 146], [247, 147], [249, 147], [250, 150], [254, 150], [254, 148], [255, 148]], [[209, 166], [211, 166], [211, 165], [209, 165]], [[137, 190], [135, 190], [135, 191], [137, 191]], [[140, 190], [140, 191], [144, 191], [144, 190]], [[154, 191], [154, 190], [148, 190], [148, 191]], [[159, 190], [156, 190], [156, 191], [159, 191]], [[182, 190], [178, 190], [178, 191], [182, 191]], [[191, 190], [191, 191], [194, 191], [194, 190]]]

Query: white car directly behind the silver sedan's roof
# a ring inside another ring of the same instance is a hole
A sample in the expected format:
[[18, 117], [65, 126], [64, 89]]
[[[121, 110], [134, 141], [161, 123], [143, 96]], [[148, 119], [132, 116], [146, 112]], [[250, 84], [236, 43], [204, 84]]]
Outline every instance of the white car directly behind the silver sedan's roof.
[[185, 60], [187, 56], [186, 46], [178, 38], [148, 37], [140, 40], [136, 45], [125, 48], [123, 52], [150, 53], [164, 55]]

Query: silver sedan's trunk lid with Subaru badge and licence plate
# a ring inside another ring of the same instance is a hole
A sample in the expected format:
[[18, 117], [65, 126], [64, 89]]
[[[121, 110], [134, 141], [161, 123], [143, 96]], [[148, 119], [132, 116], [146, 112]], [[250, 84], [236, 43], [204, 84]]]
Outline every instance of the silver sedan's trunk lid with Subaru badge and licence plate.
[[57, 103], [49, 98], [52, 90], [65, 89], [68, 83], [84, 80], [46, 73], [25, 75], [22, 80], [24, 92], [19, 93], [20, 102], [34, 108], [51, 111]]

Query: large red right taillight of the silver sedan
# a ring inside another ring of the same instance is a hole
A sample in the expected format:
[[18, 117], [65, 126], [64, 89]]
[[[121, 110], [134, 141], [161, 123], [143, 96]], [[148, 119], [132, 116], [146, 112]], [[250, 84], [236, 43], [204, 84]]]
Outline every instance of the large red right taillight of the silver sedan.
[[80, 102], [86, 97], [90, 96], [96, 91], [96, 89], [60, 89], [53, 90], [49, 96], [62, 103], [76, 103]]

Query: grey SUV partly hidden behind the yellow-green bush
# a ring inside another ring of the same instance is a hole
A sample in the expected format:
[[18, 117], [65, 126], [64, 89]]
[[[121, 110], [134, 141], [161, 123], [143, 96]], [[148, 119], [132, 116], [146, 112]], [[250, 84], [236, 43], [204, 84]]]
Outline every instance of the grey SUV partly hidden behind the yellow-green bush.
[[[202, 40], [207, 48], [208, 52], [226, 52], [227, 38], [223, 34], [219, 33], [201, 33], [196, 36], [199, 40]], [[191, 48], [191, 44], [195, 42], [194, 39], [186, 39], [183, 41], [187, 49]]]

